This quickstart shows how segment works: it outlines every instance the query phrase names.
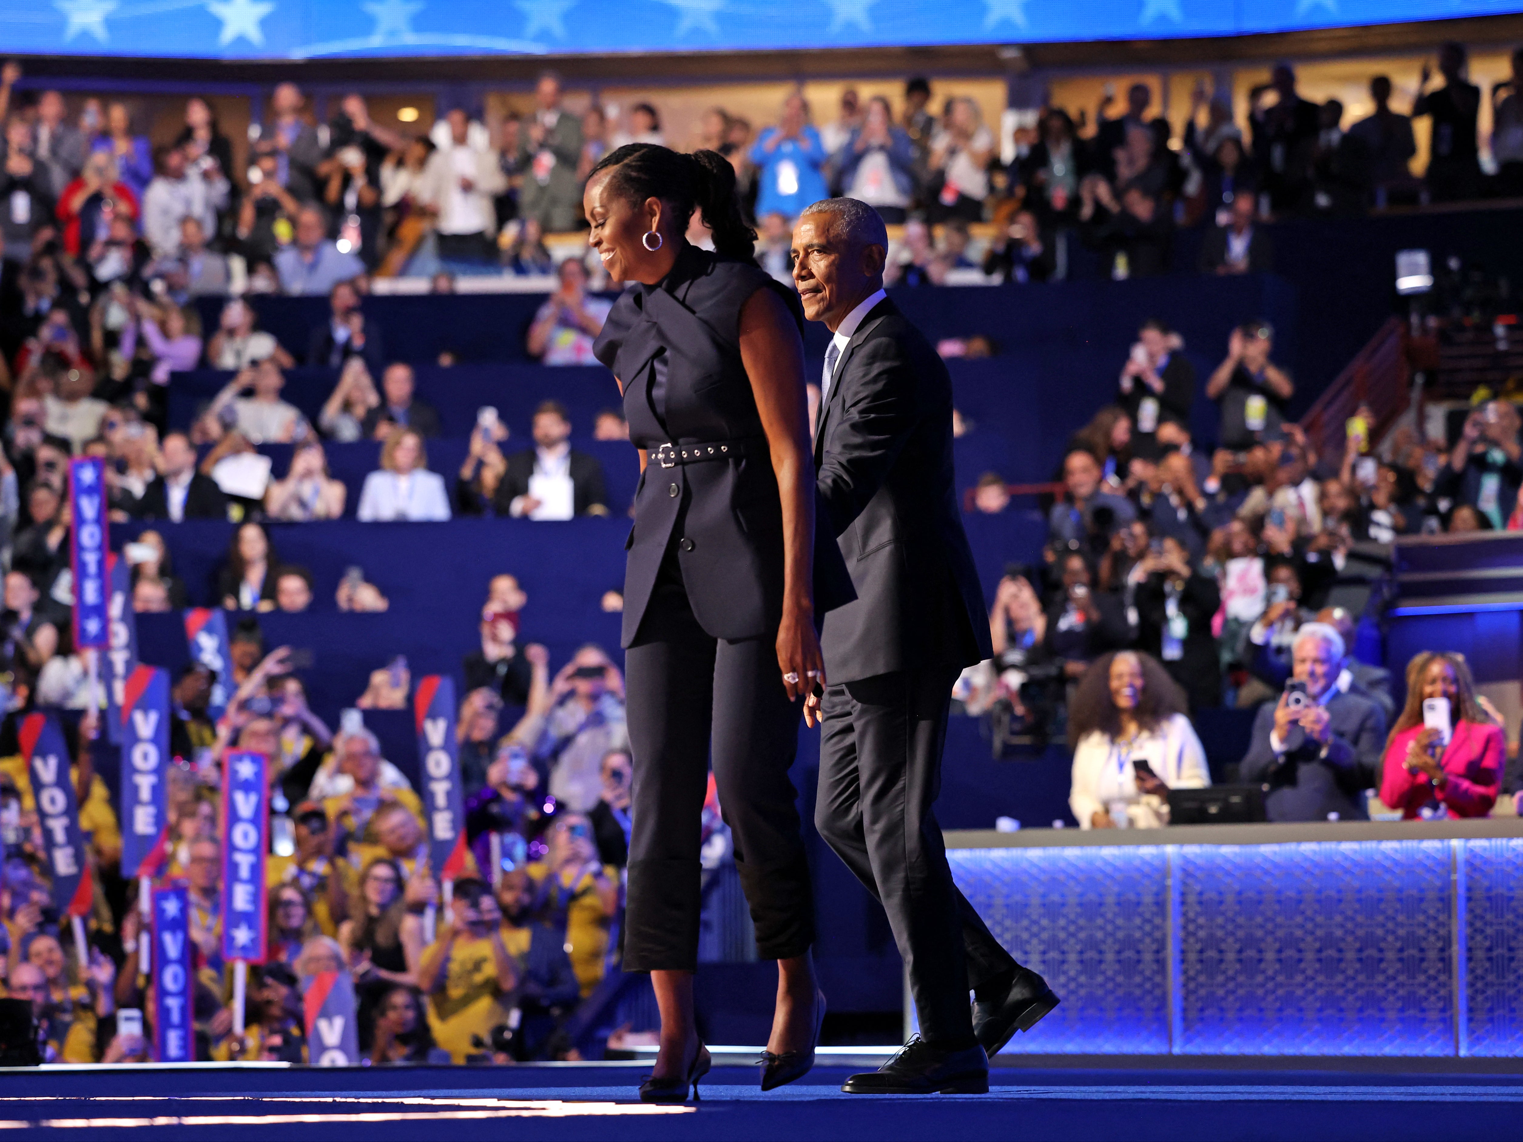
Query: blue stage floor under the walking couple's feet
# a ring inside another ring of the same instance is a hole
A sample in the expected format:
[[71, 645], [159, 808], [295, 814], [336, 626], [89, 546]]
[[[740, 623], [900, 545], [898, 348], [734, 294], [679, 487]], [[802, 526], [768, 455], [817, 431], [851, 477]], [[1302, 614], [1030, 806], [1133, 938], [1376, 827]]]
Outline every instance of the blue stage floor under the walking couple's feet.
[[643, 1107], [644, 1067], [0, 1073], [0, 1139], [1518, 1139], [1523, 1077], [999, 1069], [988, 1095], [842, 1095], [847, 1067], [762, 1095], [725, 1066], [704, 1101]]

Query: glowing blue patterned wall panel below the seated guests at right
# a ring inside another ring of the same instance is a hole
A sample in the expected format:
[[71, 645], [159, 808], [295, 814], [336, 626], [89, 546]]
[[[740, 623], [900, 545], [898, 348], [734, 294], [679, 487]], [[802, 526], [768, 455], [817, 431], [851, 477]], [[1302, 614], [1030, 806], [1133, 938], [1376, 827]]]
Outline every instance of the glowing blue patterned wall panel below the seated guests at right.
[[1514, 1057], [1523, 841], [964, 848], [1062, 1005], [1008, 1052]]

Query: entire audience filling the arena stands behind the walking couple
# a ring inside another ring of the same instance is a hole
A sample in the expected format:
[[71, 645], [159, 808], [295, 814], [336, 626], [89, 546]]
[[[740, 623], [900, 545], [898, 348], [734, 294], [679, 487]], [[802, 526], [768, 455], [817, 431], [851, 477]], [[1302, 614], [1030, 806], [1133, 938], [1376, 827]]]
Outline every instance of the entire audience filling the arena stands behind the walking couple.
[[[1523, 72], [1523, 56], [1515, 65]], [[903, 225], [894, 285], [937, 285], [961, 270], [1062, 276], [1069, 239], [1101, 251], [1116, 276], [1157, 273], [1173, 231], [1191, 225], [1208, 228], [1203, 271], [1243, 273], [1272, 265], [1260, 228], [1269, 218], [1523, 190], [1518, 94], [1491, 93], [1500, 171], [1483, 177], [1480, 93], [1464, 78], [1462, 49], [1445, 46], [1439, 72], [1442, 85], [1424, 76], [1410, 108], [1444, 128], [1422, 177], [1407, 169], [1410, 117], [1389, 107], [1389, 81], [1372, 82], [1375, 116], [1345, 128], [1342, 107], [1302, 99], [1288, 67], [1253, 93], [1246, 139], [1231, 107], [1202, 90], [1176, 146], [1139, 85], [1116, 114], [1107, 97], [1087, 134], [1083, 117], [1043, 110], [1002, 163], [975, 100], [949, 99], [938, 114], [931, 85], [911, 81], [900, 107], [847, 91], [839, 117], [819, 126], [798, 94], [760, 131], [716, 108], [701, 143], [736, 166], [757, 257], [777, 276], [789, 270], [790, 219], [829, 193]], [[0, 70], [11, 207], [0, 219], [5, 993], [32, 1002], [53, 1060], [149, 1057], [116, 1028], [119, 1010], [148, 1006], [142, 918], [137, 885], [117, 869], [120, 828], [91, 764], [99, 719], [69, 636], [69, 460], [97, 455], [113, 521], [236, 522], [216, 580], [231, 612], [227, 675], [190, 665], [174, 679], [164, 876], [190, 894], [198, 1057], [311, 1061], [300, 979], [346, 968], [375, 1064], [574, 1058], [568, 1020], [618, 961], [631, 760], [615, 661], [583, 646], [551, 668], [544, 646], [519, 638], [530, 600], [512, 574], [490, 580], [475, 632], [451, 635], [463, 650], [469, 860], [446, 901], [410, 766], [382, 757], [364, 728], [367, 710], [408, 707], [405, 658], [370, 675], [335, 731], [308, 705], [289, 649], [267, 652], [256, 617], [306, 611], [317, 594], [308, 568], [280, 559], [268, 522], [350, 509], [366, 522], [608, 515], [602, 467], [571, 446], [570, 414], [554, 400], [538, 407], [532, 446], [518, 451], [504, 448], [496, 410], [483, 408], [460, 469], [431, 471], [439, 413], [417, 396], [413, 368], [387, 355], [364, 298], [373, 274], [420, 254], [445, 270], [436, 289], [472, 266], [554, 274], [528, 350], [547, 365], [589, 362], [609, 309], [592, 291], [600, 266], [556, 263], [545, 236], [580, 225], [580, 184], [609, 148], [661, 142], [659, 111], [638, 104], [623, 125], [597, 107], [573, 116], [545, 76], [533, 114], [495, 132], [451, 110], [407, 137], [370, 120], [358, 94], [317, 125], [285, 84], [239, 177], [200, 99], [175, 143], [154, 154], [123, 105], [91, 100], [75, 119], [56, 91], [18, 81], [14, 65]], [[988, 221], [996, 238], [975, 259], [970, 227]], [[282, 346], [257, 327], [247, 291], [326, 295], [329, 315], [305, 346]], [[230, 295], [210, 332], [195, 306], [203, 295]], [[1380, 448], [1374, 416], [1360, 410], [1342, 452], [1322, 455], [1290, 419], [1295, 379], [1273, 338], [1266, 321], [1234, 329], [1202, 385], [1165, 321], [1138, 329], [1113, 404], [1066, 449], [1042, 557], [1010, 566], [998, 586], [995, 658], [958, 682], [963, 708], [987, 714], [1005, 740], [1066, 737], [1081, 828], [1167, 824], [1170, 790], [1211, 783], [1193, 714], [1215, 707], [1256, 710], [1235, 780], [1267, 787], [1275, 821], [1357, 819], [1378, 805], [1413, 819], [1479, 816], [1523, 792], [1502, 719], [1465, 661], [1413, 659], [1398, 710], [1403, 688], [1360, 659], [1362, 615], [1336, 594], [1363, 545], [1523, 528], [1515, 407], [1477, 400], [1453, 446], [1403, 429]], [[282, 397], [297, 359], [338, 373], [314, 419]], [[171, 423], [174, 375], [203, 365], [233, 376], [193, 422]], [[1209, 443], [1191, 432], [1199, 391], [1220, 408]], [[627, 426], [606, 411], [594, 435], [627, 439]], [[350, 504], [324, 445], [361, 440], [382, 443], [381, 461]], [[256, 448], [270, 443], [294, 446], [289, 467], [250, 483]], [[1010, 504], [998, 474], [970, 489], [969, 510]], [[136, 612], [187, 603], [166, 533], [143, 530], [123, 547]], [[390, 603], [356, 566], [335, 604]], [[620, 606], [608, 592], [603, 608]], [[230, 700], [213, 720], [216, 685]], [[1447, 729], [1424, 719], [1426, 699], [1447, 702]], [[78, 729], [67, 723], [96, 872], [85, 949], [52, 903], [20, 758], [17, 720], [41, 708], [85, 711]], [[270, 859], [271, 953], [253, 970], [242, 1034], [219, 950], [218, 790], [233, 748], [271, 758], [273, 833], [285, 847]], [[704, 821], [716, 842], [707, 859], [726, 836], [713, 786]]]

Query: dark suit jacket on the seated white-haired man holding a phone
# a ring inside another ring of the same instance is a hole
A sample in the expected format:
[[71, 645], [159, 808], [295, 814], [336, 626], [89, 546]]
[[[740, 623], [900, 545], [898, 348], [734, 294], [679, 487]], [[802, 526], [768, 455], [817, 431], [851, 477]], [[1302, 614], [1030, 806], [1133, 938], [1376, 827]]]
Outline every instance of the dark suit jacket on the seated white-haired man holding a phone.
[[1266, 702], [1253, 719], [1253, 740], [1243, 758], [1240, 780], [1269, 784], [1266, 809], [1270, 821], [1363, 821], [1365, 790], [1380, 784], [1386, 746], [1386, 719], [1380, 707], [1359, 694], [1334, 694], [1327, 703], [1331, 740], [1322, 746], [1292, 728], [1292, 749], [1275, 757], [1269, 735], [1275, 728], [1275, 703]]

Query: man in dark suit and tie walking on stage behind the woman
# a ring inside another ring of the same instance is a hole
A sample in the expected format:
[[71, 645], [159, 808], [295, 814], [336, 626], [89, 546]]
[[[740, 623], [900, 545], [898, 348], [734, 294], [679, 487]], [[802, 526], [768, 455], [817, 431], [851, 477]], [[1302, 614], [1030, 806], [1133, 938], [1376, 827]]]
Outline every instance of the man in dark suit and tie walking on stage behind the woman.
[[809, 699], [822, 725], [815, 824], [883, 901], [923, 1035], [842, 1089], [982, 1092], [988, 1057], [1057, 996], [958, 892], [932, 813], [952, 684], [991, 655], [952, 475], [952, 381], [883, 294], [877, 212], [816, 203], [792, 253], [804, 314], [835, 333], [815, 461], [821, 530], [836, 536], [857, 595], [821, 633], [829, 685]]

